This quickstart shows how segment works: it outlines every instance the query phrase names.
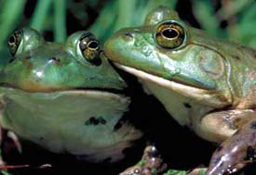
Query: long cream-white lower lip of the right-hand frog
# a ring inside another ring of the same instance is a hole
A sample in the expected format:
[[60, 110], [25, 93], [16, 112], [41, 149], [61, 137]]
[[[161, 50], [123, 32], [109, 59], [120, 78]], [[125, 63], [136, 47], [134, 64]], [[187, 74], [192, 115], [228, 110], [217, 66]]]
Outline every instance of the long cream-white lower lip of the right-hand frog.
[[[149, 74], [145, 71], [134, 69], [119, 63], [113, 62], [116, 68], [122, 69], [140, 79], [140, 81], [145, 83], [154, 83], [162, 88], [169, 89], [183, 96], [188, 96], [190, 98], [196, 99], [197, 101], [206, 102], [209, 106], [221, 107], [223, 105], [229, 104], [230, 101], [226, 96], [222, 96], [218, 90], [207, 90], [199, 87], [190, 86], [187, 84], [182, 84], [177, 81], [170, 81], [153, 74]], [[209, 100], [212, 99], [212, 100]]]

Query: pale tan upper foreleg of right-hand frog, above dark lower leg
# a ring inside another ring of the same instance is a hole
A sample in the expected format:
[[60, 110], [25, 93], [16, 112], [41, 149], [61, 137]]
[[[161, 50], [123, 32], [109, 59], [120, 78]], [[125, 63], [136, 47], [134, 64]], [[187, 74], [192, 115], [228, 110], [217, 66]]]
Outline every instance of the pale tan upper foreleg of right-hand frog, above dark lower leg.
[[195, 120], [194, 131], [209, 142], [222, 144], [252, 119], [255, 119], [255, 111], [252, 109], [213, 112]]

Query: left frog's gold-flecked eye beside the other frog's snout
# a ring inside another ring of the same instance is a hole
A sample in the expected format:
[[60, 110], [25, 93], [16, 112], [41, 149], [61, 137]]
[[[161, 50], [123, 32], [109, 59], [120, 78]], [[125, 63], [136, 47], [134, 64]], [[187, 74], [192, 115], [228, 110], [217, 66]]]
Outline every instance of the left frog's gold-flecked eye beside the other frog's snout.
[[79, 42], [79, 48], [83, 56], [88, 60], [88, 62], [100, 66], [101, 65], [101, 46], [100, 42], [95, 39], [95, 37], [88, 33], [81, 37]]

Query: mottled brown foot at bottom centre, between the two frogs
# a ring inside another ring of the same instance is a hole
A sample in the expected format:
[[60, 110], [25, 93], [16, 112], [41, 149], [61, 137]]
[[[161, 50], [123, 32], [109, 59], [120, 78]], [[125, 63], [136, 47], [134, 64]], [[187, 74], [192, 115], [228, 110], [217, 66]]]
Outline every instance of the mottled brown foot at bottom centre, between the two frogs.
[[157, 153], [155, 146], [149, 145], [145, 148], [141, 161], [119, 175], [155, 175], [167, 169], [167, 164]]

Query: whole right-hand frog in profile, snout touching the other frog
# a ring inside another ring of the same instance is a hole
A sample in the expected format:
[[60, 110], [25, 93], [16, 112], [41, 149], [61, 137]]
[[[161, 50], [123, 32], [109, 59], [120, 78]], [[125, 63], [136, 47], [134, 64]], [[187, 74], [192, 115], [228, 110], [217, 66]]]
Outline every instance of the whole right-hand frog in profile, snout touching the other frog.
[[[177, 35], [160, 32], [167, 24], [179, 26], [180, 43], [177, 30]], [[248, 150], [256, 148], [255, 50], [192, 28], [167, 7], [150, 12], [141, 27], [117, 31], [104, 50], [116, 67], [138, 77], [182, 126], [222, 143], [208, 175], [236, 171]]]

